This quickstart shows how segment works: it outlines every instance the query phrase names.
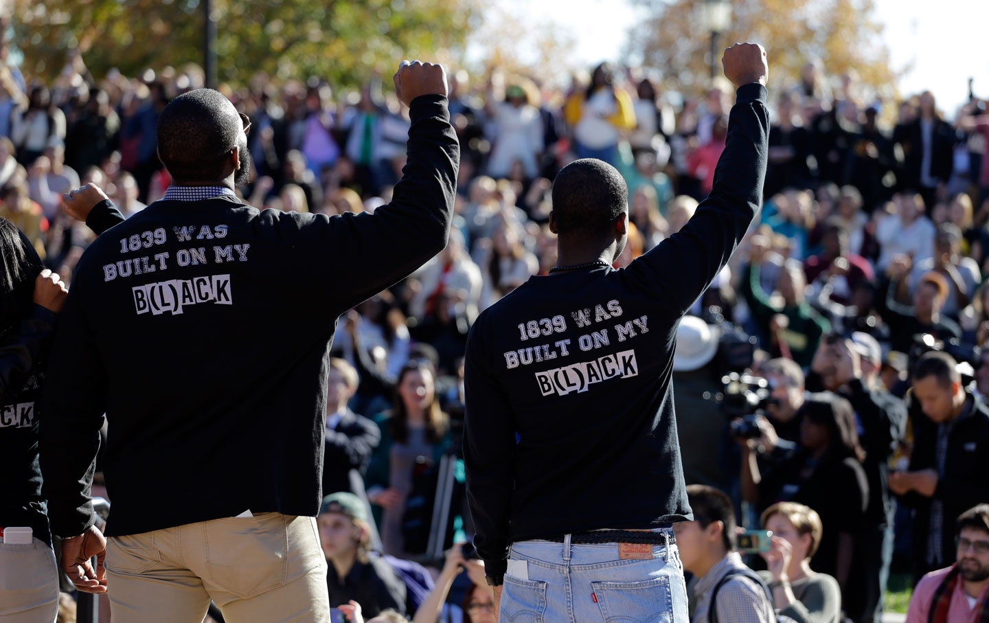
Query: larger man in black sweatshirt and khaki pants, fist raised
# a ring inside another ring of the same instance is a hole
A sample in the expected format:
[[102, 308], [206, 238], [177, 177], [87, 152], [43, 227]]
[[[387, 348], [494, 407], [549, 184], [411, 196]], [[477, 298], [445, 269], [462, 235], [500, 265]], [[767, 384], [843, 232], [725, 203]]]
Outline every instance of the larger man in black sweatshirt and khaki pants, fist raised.
[[[158, 118], [164, 199], [79, 261], [48, 369], [42, 470], [63, 569], [109, 592], [114, 621], [199, 621], [211, 599], [228, 620], [329, 619], [315, 515], [336, 319], [444, 248], [460, 158], [443, 68], [405, 61], [395, 86], [410, 107], [407, 164], [373, 215], [242, 204], [250, 121], [199, 89]], [[98, 191], [73, 191], [68, 211], [95, 218]], [[104, 413], [107, 540], [89, 497]]]

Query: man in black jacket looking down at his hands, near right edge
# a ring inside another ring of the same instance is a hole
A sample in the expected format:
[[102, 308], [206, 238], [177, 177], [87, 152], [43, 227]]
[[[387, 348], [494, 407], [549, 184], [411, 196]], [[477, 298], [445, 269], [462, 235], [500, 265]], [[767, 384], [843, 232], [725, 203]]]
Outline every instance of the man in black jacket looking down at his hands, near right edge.
[[952, 517], [989, 490], [989, 408], [962, 386], [957, 362], [943, 352], [918, 360], [909, 401], [914, 450], [889, 489], [914, 512], [914, 576], [954, 562]]

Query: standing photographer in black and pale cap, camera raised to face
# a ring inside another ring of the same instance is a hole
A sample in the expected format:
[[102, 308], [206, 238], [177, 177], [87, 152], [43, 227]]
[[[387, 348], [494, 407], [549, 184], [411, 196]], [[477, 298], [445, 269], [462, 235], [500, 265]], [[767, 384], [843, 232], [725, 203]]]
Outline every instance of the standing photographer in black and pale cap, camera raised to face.
[[854, 408], [859, 442], [865, 449], [862, 468], [868, 479], [868, 508], [856, 558], [855, 571], [861, 578], [853, 582], [854, 594], [846, 594], [849, 614], [856, 621], [871, 621], [882, 614], [882, 593], [889, 576], [893, 547], [893, 502], [886, 486], [888, 461], [903, 436], [907, 411], [903, 401], [879, 384], [882, 351], [878, 342], [865, 333], [852, 339], [837, 335], [821, 342], [808, 386], [812, 391], [827, 390], [847, 399]]

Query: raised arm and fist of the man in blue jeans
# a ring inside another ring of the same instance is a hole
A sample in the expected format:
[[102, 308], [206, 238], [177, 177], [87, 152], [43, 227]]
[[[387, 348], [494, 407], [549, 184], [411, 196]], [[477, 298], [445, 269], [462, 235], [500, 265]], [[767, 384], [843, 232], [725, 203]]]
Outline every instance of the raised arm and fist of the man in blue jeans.
[[722, 62], [738, 91], [711, 194], [678, 233], [628, 268], [644, 283], [658, 282], [658, 294], [681, 311], [689, 309], [728, 263], [763, 202], [769, 136], [765, 50], [757, 44], [732, 45]]

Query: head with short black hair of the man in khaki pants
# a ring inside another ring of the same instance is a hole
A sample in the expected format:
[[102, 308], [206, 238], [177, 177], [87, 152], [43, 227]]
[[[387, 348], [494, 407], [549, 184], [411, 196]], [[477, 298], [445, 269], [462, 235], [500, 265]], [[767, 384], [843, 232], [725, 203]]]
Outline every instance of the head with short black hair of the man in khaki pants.
[[158, 155], [172, 178], [212, 182], [223, 175], [225, 155], [240, 134], [240, 121], [229, 114], [229, 100], [213, 89], [184, 93], [158, 116]]

